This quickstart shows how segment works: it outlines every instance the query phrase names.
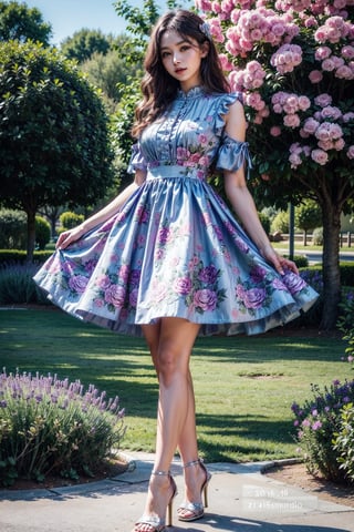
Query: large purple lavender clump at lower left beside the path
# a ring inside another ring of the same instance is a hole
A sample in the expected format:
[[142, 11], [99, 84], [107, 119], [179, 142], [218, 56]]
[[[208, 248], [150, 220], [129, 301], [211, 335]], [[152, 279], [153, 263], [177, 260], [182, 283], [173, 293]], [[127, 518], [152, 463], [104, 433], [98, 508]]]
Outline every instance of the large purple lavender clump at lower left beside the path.
[[124, 436], [118, 397], [80, 380], [0, 374], [0, 482], [94, 475]]

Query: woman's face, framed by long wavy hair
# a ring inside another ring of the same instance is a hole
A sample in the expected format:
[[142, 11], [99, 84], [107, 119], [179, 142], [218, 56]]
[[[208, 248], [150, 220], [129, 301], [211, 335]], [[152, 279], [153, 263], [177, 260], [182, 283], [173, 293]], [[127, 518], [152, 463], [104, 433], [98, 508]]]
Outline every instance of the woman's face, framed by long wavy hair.
[[200, 84], [201, 59], [208, 54], [208, 45], [200, 47], [195, 39], [181, 37], [174, 30], [162, 38], [160, 54], [166, 71], [178, 80], [183, 91]]

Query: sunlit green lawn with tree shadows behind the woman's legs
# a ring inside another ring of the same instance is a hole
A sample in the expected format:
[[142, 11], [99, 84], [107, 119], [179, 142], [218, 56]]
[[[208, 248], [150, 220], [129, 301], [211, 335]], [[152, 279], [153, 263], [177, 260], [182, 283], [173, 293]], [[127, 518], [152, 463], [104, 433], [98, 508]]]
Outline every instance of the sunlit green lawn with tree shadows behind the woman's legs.
[[[196, 342], [191, 370], [198, 439], [208, 461], [249, 461], [295, 456], [295, 400], [311, 382], [353, 378], [341, 361], [346, 345], [335, 337], [210, 337]], [[157, 383], [144, 340], [117, 336], [58, 309], [0, 311], [0, 367], [58, 374], [94, 383], [126, 409], [126, 450], [153, 451]]]

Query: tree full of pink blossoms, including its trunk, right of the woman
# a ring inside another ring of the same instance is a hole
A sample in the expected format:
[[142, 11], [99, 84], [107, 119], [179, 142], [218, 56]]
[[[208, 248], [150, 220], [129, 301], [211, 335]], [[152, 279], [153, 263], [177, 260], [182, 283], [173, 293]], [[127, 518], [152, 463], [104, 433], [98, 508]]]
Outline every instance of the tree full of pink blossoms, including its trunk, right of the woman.
[[231, 88], [243, 93], [252, 187], [284, 207], [315, 201], [323, 223], [321, 328], [341, 297], [341, 213], [354, 196], [352, 0], [197, 0]]

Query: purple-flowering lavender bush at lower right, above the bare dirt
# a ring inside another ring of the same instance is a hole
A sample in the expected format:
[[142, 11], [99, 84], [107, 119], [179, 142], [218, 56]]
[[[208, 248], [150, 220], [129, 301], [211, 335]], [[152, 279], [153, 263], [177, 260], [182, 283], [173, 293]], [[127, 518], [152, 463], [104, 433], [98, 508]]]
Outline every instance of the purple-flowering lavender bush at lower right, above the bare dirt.
[[327, 480], [342, 482], [347, 475], [341, 469], [341, 452], [334, 441], [342, 430], [342, 409], [354, 401], [354, 380], [344, 385], [335, 380], [323, 390], [312, 385], [312, 395], [302, 407], [295, 402], [291, 407], [300, 452], [311, 474], [320, 472]]

